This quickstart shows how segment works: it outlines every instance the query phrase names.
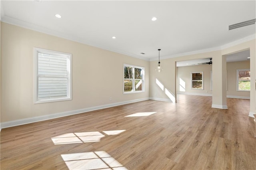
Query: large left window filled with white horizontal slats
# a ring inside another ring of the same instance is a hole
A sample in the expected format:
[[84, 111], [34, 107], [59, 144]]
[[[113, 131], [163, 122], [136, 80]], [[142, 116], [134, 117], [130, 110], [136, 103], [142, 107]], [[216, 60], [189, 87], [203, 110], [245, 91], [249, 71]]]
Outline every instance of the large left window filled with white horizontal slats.
[[35, 103], [71, 100], [71, 57], [35, 48]]

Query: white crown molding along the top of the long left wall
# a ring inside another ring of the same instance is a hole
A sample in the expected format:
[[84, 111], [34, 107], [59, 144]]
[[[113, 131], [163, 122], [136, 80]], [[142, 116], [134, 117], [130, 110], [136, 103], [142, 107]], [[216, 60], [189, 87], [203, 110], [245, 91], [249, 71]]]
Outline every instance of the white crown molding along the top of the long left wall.
[[30, 24], [28, 22], [24, 22], [24, 21], [21, 21], [21, 20], [16, 20], [16, 19], [10, 18], [8, 16], [4, 16], [1, 20], [1, 22], [5, 22], [7, 24], [12, 24], [12, 25], [15, 25], [15, 26], [19, 26], [19, 27], [22, 27], [22, 28], [29, 29], [29, 30], [42, 32], [44, 34], [48, 34], [48, 35], [51, 35], [51, 36], [64, 38], [64, 39], [71, 40], [71, 41], [74, 41], [74, 42], [90, 45], [90, 46], [93, 46], [93, 47], [98, 47], [98, 48], [105, 49], [105, 50], [108, 50], [108, 51], [112, 51], [112, 52], [115, 52], [115, 53], [120, 53], [120, 54], [123, 54], [123, 55], [128, 55], [130, 57], [134, 57], [134, 58], [149, 61], [149, 59], [146, 58], [146, 57], [138, 56], [138, 55], [135, 55], [135, 54], [132, 54], [132, 53], [129, 53], [129, 52], [124, 53], [124, 52], [119, 51], [118, 49], [114, 49], [114, 50], [113, 49], [108, 49], [105, 46], [89, 43], [89, 42], [81, 40], [80, 38], [77, 38], [75, 36], [69, 36], [67, 34], [64, 34], [64, 33], [58, 32], [58, 31], [54, 31], [54, 30], [51, 30], [51, 29], [48, 29], [48, 28], [44, 28], [44, 27], [41, 27], [41, 26], [38, 26], [38, 25], [35, 25], [35, 24]]

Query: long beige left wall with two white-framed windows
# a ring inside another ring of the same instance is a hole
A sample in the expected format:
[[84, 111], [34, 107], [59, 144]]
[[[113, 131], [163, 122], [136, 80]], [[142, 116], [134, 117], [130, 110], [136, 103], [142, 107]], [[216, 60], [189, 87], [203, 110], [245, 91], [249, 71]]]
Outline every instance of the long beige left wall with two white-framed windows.
[[[33, 47], [72, 53], [71, 101], [33, 103]], [[6, 23], [1, 49], [1, 122], [149, 97], [149, 61]], [[144, 93], [123, 94], [124, 63], [145, 67]]]

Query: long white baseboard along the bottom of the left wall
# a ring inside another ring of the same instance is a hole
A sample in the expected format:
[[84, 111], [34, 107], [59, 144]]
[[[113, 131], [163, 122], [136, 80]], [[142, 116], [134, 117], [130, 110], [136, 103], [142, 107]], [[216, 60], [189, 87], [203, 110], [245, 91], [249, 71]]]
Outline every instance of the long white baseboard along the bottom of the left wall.
[[89, 108], [78, 109], [78, 110], [73, 110], [73, 111], [54, 113], [54, 114], [50, 114], [50, 115], [43, 115], [43, 116], [38, 116], [38, 117], [19, 119], [19, 120], [15, 120], [15, 121], [2, 122], [0, 124], [0, 128], [2, 129], [2, 128], [14, 127], [14, 126], [18, 126], [18, 125], [25, 125], [25, 124], [28, 124], [28, 123], [46, 121], [46, 120], [49, 120], [49, 119], [55, 119], [55, 118], [65, 117], [65, 116], [70, 116], [70, 115], [76, 115], [76, 114], [79, 114], [79, 113], [86, 113], [86, 112], [95, 111], [95, 110], [99, 110], [99, 109], [106, 109], [106, 108], [109, 108], [109, 107], [115, 107], [115, 106], [119, 106], [119, 105], [125, 105], [125, 104], [129, 104], [129, 103], [135, 103], [135, 102], [146, 101], [146, 100], [149, 100], [149, 97], [144, 98], [144, 99], [123, 101], [123, 102], [112, 103], [112, 104], [108, 104], [108, 105], [101, 105], [101, 106], [96, 106], [96, 107], [89, 107]]

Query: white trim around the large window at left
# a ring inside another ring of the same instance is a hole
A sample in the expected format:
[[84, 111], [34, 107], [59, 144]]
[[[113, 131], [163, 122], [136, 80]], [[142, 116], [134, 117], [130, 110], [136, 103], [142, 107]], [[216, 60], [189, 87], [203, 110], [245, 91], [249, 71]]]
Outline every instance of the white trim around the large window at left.
[[[51, 55], [59, 55], [59, 56], [68, 58], [67, 65], [69, 67], [67, 67], [67, 75], [68, 75], [67, 97], [58, 98], [58, 99], [38, 100], [38, 53], [47, 53]], [[56, 102], [56, 101], [67, 101], [67, 100], [72, 100], [72, 54], [34, 47], [34, 104], [49, 103], [49, 102]]]

